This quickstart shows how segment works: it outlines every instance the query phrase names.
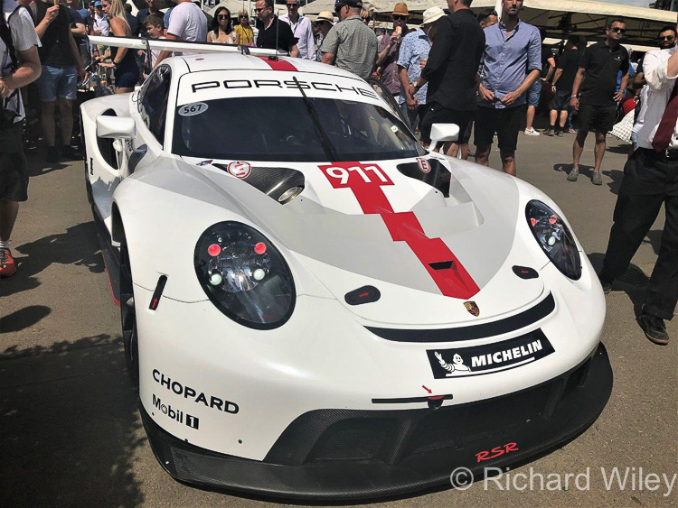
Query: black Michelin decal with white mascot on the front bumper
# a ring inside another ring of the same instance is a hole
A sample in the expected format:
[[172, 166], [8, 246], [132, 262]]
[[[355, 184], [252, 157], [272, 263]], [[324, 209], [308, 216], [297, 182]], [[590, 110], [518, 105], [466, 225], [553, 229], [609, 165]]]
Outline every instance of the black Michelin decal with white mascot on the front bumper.
[[541, 329], [503, 342], [483, 346], [428, 349], [433, 377], [468, 377], [492, 374], [532, 364], [555, 350]]

